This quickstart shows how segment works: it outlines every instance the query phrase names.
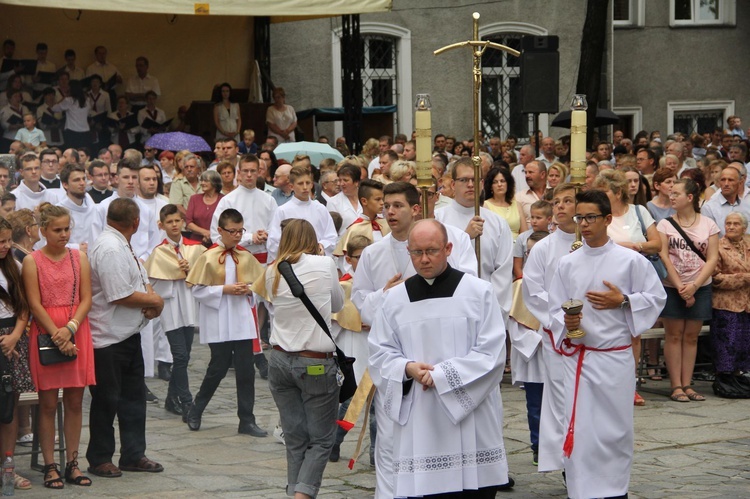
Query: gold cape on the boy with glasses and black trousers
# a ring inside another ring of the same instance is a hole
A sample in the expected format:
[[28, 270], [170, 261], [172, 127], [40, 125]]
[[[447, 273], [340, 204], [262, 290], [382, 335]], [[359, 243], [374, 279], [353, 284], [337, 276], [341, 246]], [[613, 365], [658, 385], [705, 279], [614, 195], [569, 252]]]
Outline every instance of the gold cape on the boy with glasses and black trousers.
[[202, 286], [223, 286], [226, 278], [224, 264], [227, 258], [233, 258], [237, 264], [237, 282], [252, 284], [263, 275], [263, 265], [255, 259], [252, 253], [242, 246], [235, 246], [231, 250], [232, 256], [225, 253], [224, 247], [214, 244], [207, 249], [191, 266], [186, 282], [188, 286], [200, 284]]

